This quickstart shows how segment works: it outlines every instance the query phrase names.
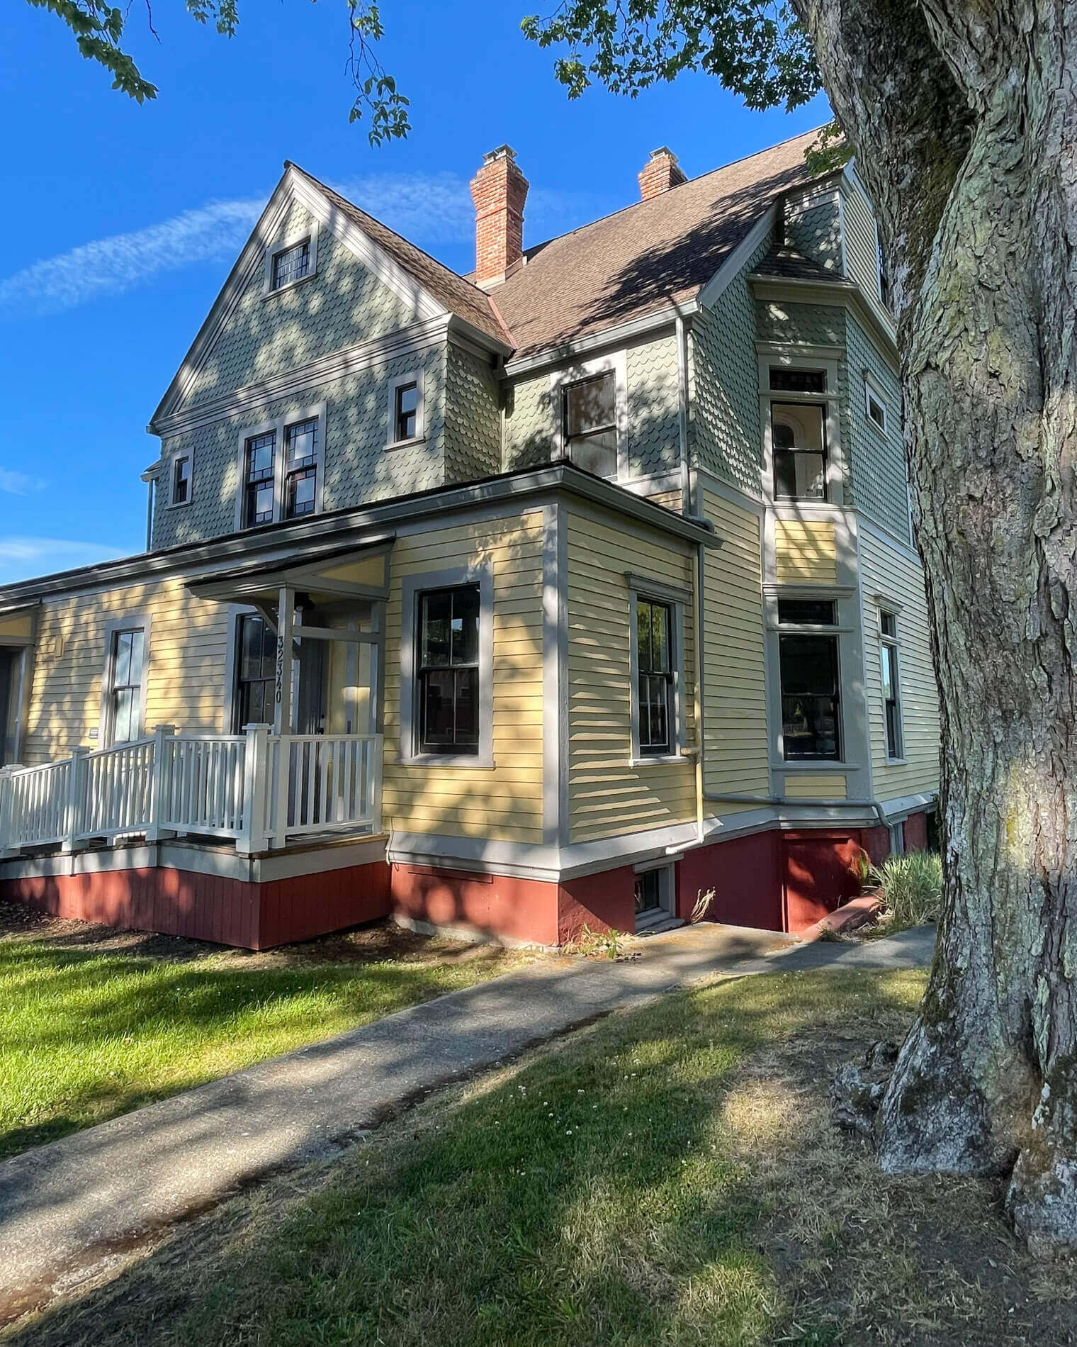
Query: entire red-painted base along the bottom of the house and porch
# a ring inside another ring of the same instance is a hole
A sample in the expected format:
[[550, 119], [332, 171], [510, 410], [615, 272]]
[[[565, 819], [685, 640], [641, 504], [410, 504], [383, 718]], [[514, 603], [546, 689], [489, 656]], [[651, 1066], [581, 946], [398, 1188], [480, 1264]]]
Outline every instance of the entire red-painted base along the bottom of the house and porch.
[[[860, 892], [863, 862], [882, 861], [886, 828], [770, 830], [689, 850], [676, 862], [676, 915], [688, 920], [714, 890], [708, 920], [805, 931]], [[926, 818], [905, 823], [905, 846], [926, 846]], [[0, 882], [0, 897], [78, 921], [159, 931], [268, 950], [390, 912], [495, 938], [567, 944], [591, 931], [634, 927], [631, 866], [553, 884], [424, 865], [374, 862], [289, 880], [240, 880], [158, 867], [39, 876]]]

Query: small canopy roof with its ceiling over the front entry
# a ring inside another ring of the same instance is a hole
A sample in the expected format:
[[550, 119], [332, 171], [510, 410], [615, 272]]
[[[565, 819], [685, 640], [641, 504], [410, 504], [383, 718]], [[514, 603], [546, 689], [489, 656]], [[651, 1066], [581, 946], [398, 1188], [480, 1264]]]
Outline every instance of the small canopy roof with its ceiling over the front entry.
[[283, 589], [302, 590], [315, 603], [342, 598], [386, 598], [389, 555], [396, 533], [378, 533], [362, 543], [308, 550], [269, 562], [250, 562], [187, 581], [187, 589], [201, 598], [226, 602], [276, 602]]

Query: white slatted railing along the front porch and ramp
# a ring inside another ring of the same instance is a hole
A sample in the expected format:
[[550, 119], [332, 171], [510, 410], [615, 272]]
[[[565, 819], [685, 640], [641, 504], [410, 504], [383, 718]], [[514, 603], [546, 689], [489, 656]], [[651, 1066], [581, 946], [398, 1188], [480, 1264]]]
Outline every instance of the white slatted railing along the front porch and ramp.
[[176, 734], [0, 768], [0, 855], [144, 834], [233, 838], [242, 853], [289, 836], [381, 830], [381, 735]]

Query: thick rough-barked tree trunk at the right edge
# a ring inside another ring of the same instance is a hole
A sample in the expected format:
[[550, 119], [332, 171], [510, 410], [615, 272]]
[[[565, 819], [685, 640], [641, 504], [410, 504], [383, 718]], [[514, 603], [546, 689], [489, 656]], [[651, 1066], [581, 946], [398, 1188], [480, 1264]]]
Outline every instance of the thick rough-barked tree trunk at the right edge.
[[1077, 1246], [1077, 0], [797, 0], [894, 264], [944, 917], [878, 1121]]

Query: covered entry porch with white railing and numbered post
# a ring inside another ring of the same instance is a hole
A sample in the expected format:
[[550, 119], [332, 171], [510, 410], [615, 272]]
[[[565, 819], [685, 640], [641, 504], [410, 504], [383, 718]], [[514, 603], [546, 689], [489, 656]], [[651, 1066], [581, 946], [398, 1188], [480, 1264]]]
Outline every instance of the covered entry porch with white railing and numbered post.
[[144, 683], [152, 633], [102, 690], [133, 735], [0, 768], [0, 857], [187, 839], [240, 855], [381, 832], [381, 703], [392, 535], [314, 558], [194, 577], [229, 607], [225, 727], [141, 730], [117, 700]]

